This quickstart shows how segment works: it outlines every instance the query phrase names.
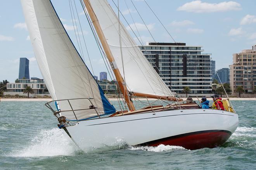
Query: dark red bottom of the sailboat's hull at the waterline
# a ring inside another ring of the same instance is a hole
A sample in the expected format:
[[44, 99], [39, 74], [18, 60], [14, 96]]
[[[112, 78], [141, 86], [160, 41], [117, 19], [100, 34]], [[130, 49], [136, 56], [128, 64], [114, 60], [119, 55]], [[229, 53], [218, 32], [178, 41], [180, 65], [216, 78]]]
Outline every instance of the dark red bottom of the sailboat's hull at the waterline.
[[215, 148], [225, 143], [230, 137], [231, 132], [224, 130], [209, 130], [193, 133], [180, 134], [168, 138], [158, 139], [140, 145], [158, 146], [173, 145], [182, 146], [189, 150], [197, 150], [201, 148]]

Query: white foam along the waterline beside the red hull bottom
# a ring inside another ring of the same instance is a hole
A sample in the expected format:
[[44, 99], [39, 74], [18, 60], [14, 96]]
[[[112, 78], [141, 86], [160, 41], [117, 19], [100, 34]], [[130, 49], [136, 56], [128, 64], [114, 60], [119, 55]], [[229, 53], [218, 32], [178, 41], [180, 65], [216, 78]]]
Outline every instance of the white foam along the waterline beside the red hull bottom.
[[163, 152], [170, 150], [186, 150], [182, 146], [158, 145], [158, 146], [130, 146], [128, 150], [142, 150], [150, 152]]

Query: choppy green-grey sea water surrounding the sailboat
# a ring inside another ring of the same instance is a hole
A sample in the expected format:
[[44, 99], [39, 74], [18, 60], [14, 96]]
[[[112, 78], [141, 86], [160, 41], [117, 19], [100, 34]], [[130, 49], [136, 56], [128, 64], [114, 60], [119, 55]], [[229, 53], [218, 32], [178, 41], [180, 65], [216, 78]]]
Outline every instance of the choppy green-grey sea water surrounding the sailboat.
[[180, 146], [121, 143], [86, 153], [57, 128], [56, 118], [44, 103], [0, 102], [0, 170], [256, 169], [256, 100], [232, 102], [239, 127], [217, 148], [191, 151]]

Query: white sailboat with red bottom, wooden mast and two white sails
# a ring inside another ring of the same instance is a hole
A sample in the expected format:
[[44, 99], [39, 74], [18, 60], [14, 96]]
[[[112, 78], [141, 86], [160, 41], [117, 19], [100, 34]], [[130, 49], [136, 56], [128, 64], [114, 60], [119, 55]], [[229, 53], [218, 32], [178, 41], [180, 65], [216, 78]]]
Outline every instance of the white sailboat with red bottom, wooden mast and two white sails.
[[[50, 0], [21, 0], [38, 66], [59, 128], [82, 150], [127, 145], [214, 148], [238, 126], [227, 110], [187, 108], [147, 61], [107, 0], [83, 0], [127, 110], [117, 111], [93, 78]], [[136, 109], [135, 98], [173, 104]], [[54, 105], [54, 107], [52, 106]]]

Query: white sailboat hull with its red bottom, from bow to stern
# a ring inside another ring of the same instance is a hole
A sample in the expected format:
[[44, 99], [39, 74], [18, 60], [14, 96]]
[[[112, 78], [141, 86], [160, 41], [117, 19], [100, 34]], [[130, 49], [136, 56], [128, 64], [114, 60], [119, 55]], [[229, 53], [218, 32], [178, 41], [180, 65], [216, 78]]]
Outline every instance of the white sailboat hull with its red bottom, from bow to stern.
[[74, 143], [85, 151], [115, 146], [119, 142], [131, 146], [166, 145], [173, 144], [173, 139], [175, 145], [198, 149], [224, 143], [237, 129], [238, 122], [238, 115], [232, 112], [187, 109], [81, 121], [67, 127], [67, 131]]

